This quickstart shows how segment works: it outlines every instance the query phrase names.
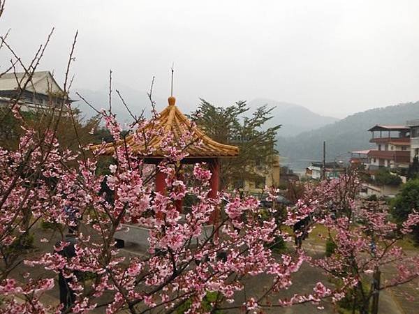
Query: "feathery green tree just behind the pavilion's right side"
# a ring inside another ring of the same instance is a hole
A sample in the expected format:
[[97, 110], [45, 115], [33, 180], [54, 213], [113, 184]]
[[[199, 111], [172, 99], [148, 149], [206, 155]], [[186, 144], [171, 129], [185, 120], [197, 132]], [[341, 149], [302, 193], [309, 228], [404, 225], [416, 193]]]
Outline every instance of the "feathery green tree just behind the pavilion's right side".
[[221, 185], [229, 186], [235, 180], [253, 179], [257, 175], [255, 167], [263, 169], [273, 163], [277, 130], [281, 126], [265, 126], [272, 119], [272, 109], [262, 106], [251, 117], [245, 101], [238, 101], [228, 107], [216, 107], [201, 99], [198, 110], [191, 119], [212, 139], [223, 144], [238, 146], [237, 158], [221, 160]]

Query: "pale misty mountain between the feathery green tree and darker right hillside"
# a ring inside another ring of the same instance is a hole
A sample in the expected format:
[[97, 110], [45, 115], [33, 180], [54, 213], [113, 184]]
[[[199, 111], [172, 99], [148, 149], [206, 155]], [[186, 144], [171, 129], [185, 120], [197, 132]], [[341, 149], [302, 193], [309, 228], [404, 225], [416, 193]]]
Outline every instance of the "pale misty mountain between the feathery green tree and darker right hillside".
[[276, 100], [256, 98], [248, 102], [249, 107], [255, 109], [261, 105], [275, 107], [272, 111], [273, 118], [269, 121], [270, 125], [282, 124], [278, 134], [281, 136], [292, 136], [304, 131], [314, 130], [332, 124], [338, 119], [321, 116], [306, 107], [295, 105], [293, 103], [282, 103]]

